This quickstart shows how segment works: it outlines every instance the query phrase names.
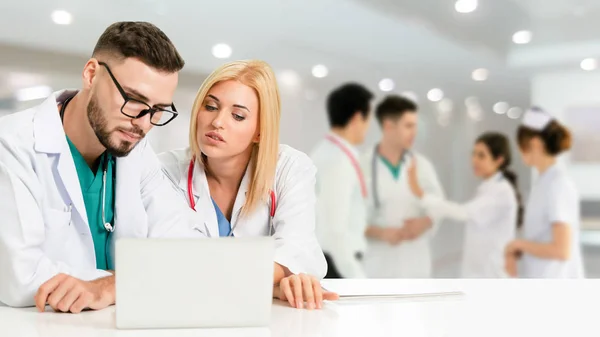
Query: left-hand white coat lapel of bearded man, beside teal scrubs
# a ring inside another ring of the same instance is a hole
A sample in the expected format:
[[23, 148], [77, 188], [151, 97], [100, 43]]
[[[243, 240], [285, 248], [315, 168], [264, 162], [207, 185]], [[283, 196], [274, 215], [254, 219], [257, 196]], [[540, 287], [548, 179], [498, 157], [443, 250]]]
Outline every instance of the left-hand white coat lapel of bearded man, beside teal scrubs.
[[[74, 221], [74, 223], [76, 225], [85, 224], [85, 226], [78, 228], [79, 233], [90, 235], [79, 176], [75, 169], [73, 155], [69, 149], [57, 108], [57, 101], [62, 101], [61, 98], [75, 94], [76, 92], [67, 90], [56, 92], [38, 107], [33, 120], [34, 148], [36, 151], [47, 153], [49, 156], [58, 155], [57, 173], [60, 181], [57, 181], [57, 184], [63, 185], [61, 190], [66, 191], [71, 205], [83, 220], [83, 222]], [[58, 187], [60, 189], [60, 186]]]

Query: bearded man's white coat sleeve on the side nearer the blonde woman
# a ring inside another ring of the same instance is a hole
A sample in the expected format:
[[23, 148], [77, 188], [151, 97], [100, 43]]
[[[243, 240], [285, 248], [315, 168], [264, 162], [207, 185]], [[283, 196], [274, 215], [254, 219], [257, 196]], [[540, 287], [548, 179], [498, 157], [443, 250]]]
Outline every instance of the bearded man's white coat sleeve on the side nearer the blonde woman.
[[207, 237], [202, 213], [194, 212], [181, 197], [179, 187], [164, 174], [147, 142], [142, 156], [141, 194], [148, 216], [148, 236]]

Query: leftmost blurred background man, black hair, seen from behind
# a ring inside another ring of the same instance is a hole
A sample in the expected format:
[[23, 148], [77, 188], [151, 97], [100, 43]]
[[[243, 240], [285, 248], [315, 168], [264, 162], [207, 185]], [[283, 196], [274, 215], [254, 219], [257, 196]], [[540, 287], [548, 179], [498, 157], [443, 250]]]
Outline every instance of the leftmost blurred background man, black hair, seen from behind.
[[317, 225], [326, 278], [364, 278], [367, 186], [356, 146], [363, 143], [373, 94], [360, 84], [340, 86], [327, 98], [331, 132], [314, 149]]

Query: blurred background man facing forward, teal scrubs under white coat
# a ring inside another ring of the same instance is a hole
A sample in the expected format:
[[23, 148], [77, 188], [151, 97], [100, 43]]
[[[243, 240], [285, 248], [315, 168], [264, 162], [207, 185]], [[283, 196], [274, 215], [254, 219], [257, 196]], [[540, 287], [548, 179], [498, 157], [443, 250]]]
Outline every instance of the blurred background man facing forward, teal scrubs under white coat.
[[368, 248], [364, 264], [370, 278], [431, 277], [430, 239], [436, 219], [413, 196], [405, 171], [416, 160], [428, 193], [443, 196], [433, 165], [412, 149], [417, 134], [417, 105], [388, 96], [376, 108], [383, 136], [362, 159], [369, 186]]

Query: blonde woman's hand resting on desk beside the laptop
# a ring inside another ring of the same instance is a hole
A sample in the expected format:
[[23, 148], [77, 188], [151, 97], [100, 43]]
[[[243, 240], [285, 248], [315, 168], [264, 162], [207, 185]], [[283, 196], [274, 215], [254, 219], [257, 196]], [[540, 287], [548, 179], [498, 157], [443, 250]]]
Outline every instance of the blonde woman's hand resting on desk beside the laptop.
[[323, 300], [334, 301], [338, 294], [324, 291], [319, 280], [311, 275], [299, 274], [284, 277], [279, 285], [273, 288], [273, 297], [288, 303], [297, 309], [321, 309]]

